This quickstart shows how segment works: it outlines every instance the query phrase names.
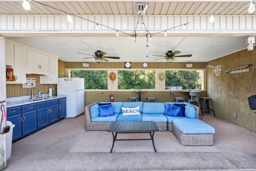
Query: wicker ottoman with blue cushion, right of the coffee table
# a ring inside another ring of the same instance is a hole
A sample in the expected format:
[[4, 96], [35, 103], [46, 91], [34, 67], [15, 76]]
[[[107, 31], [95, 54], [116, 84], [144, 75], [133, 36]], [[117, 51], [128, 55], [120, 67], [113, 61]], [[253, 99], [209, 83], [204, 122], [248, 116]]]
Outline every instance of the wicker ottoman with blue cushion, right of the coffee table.
[[176, 119], [173, 134], [182, 145], [213, 145], [215, 129], [199, 119]]

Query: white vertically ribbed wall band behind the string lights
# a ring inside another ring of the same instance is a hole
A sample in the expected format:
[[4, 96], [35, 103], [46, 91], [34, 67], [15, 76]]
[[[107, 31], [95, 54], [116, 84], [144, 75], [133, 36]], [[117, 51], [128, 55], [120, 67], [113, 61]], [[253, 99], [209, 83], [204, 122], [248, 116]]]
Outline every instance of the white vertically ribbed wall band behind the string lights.
[[[0, 16], [0, 28], [13, 30], [80, 30], [80, 29], [95, 29], [96, 24], [102, 24], [114, 29], [135, 29], [138, 16], [101, 16], [90, 15], [74, 17], [73, 23], [68, 23], [66, 15], [13, 15], [13, 16]], [[86, 20], [84, 20], [84, 19]], [[144, 16], [144, 23], [147, 29], [170, 29], [170, 30], [183, 30], [185, 23], [188, 23], [188, 30], [252, 30], [256, 29], [256, 17], [253, 16], [214, 16], [214, 23], [209, 22], [209, 17], [204, 16]], [[90, 21], [92, 22], [90, 22]], [[95, 23], [94, 23], [95, 22]], [[139, 23], [142, 21], [139, 19]], [[100, 29], [106, 30], [104, 26]], [[139, 29], [139, 28], [137, 28]]]

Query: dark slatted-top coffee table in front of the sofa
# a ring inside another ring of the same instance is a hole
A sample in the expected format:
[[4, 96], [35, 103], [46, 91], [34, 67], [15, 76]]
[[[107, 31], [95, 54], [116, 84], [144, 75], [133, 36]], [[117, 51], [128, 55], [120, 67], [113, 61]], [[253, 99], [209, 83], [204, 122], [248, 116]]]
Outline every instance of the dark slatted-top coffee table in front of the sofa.
[[[133, 121], [133, 122], [112, 122], [108, 128], [108, 132], [112, 132], [113, 144], [110, 150], [112, 153], [114, 143], [116, 141], [130, 141], [130, 140], [152, 140], [154, 150], [156, 152], [156, 147], [154, 145], [154, 133], [158, 131], [158, 126], [154, 121]], [[114, 132], [116, 134], [114, 134]], [[142, 139], [116, 139], [117, 134], [133, 134], [133, 133], [149, 133], [150, 138]]]

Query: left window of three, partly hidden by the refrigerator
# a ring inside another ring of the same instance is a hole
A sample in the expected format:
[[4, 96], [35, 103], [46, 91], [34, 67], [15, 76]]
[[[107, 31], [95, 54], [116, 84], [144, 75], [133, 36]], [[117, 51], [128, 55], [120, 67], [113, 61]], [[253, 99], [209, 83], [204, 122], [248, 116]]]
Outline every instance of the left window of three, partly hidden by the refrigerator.
[[70, 75], [71, 77], [84, 78], [84, 89], [108, 89], [107, 70], [72, 70]]

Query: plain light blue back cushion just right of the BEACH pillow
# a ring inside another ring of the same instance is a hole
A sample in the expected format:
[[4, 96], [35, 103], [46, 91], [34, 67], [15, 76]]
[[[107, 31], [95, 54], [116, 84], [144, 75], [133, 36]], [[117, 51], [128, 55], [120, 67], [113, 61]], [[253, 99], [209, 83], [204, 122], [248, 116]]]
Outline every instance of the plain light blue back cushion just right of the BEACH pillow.
[[163, 114], [165, 110], [164, 103], [143, 103], [142, 113]]

